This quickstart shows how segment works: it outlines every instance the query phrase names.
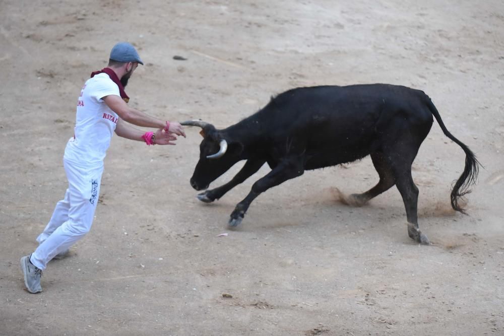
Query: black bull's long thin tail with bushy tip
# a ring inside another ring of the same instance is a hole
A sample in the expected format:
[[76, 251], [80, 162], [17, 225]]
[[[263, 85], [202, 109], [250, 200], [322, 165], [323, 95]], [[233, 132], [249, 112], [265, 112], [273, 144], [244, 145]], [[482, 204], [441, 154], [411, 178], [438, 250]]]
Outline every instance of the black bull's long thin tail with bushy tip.
[[447, 136], [450, 140], [459, 145], [466, 153], [466, 164], [464, 166], [464, 171], [460, 175], [459, 179], [455, 181], [452, 193], [450, 194], [452, 208], [456, 211], [460, 211], [461, 213], [465, 214], [464, 209], [462, 209], [462, 207], [459, 205], [459, 199], [465, 194], [471, 192], [471, 190], [469, 190], [469, 186], [476, 183], [479, 166], [481, 166], [481, 164], [478, 162], [478, 160], [476, 160], [476, 156], [469, 149], [469, 147], [467, 147], [460, 140], [455, 138], [452, 135], [452, 133], [448, 131], [445, 124], [443, 123], [443, 120], [441, 119], [441, 116], [439, 115], [439, 112], [437, 111], [436, 107], [428, 97], [427, 97], [427, 106], [429, 107], [429, 110], [434, 116], [434, 118], [436, 118], [439, 127], [441, 127], [441, 129], [443, 130], [443, 133], [445, 133], [445, 136]]

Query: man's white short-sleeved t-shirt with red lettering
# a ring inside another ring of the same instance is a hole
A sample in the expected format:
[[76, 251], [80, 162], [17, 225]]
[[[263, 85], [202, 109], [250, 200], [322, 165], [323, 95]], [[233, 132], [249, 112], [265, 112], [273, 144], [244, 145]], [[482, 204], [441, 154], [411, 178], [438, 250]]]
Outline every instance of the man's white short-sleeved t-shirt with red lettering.
[[65, 149], [65, 159], [80, 165], [103, 164], [118, 115], [103, 101], [103, 97], [119, 94], [119, 87], [101, 73], [86, 81], [77, 102], [74, 137]]

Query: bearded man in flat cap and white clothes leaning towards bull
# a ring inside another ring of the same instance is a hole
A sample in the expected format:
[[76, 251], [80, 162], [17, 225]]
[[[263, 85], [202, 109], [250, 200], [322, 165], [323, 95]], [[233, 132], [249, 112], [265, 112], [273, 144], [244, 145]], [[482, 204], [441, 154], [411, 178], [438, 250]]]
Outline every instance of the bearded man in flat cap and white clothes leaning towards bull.
[[[93, 72], [77, 102], [74, 136], [63, 158], [68, 179], [65, 198], [60, 200], [44, 231], [38, 236], [38, 248], [21, 258], [25, 286], [40, 293], [40, 278], [53, 257], [64, 257], [70, 246], [89, 232], [98, 204], [103, 160], [112, 132], [122, 138], [144, 141], [147, 145], [175, 145], [185, 137], [178, 122], [168, 122], [127, 105], [124, 87], [138, 64], [144, 64], [133, 45], [117, 43], [110, 52], [107, 68]], [[145, 132], [131, 124], [157, 128]]]

